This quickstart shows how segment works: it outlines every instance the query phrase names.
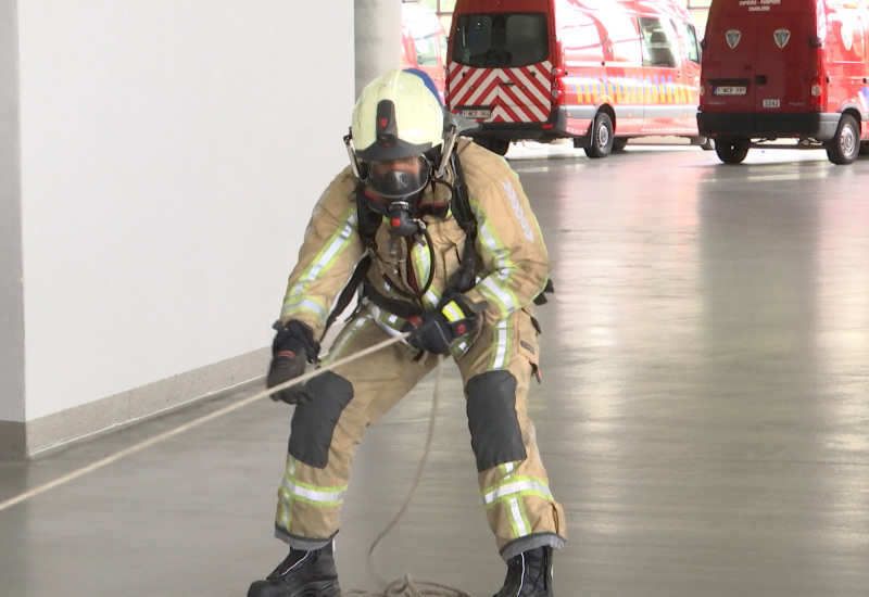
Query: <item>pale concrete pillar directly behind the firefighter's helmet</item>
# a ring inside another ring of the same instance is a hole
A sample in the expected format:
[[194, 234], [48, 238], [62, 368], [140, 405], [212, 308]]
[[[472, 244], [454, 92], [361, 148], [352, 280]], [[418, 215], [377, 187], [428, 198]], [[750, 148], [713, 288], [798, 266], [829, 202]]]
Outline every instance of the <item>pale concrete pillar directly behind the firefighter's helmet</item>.
[[390, 68], [401, 66], [401, 1], [354, 0], [356, 97]]

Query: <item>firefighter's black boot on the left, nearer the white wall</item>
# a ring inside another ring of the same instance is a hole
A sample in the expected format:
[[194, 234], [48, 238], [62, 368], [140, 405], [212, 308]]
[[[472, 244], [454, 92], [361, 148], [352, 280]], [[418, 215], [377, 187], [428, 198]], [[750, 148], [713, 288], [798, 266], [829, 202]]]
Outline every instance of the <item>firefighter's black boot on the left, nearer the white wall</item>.
[[332, 544], [315, 551], [290, 548], [287, 559], [265, 581], [254, 581], [248, 597], [337, 597], [338, 572]]

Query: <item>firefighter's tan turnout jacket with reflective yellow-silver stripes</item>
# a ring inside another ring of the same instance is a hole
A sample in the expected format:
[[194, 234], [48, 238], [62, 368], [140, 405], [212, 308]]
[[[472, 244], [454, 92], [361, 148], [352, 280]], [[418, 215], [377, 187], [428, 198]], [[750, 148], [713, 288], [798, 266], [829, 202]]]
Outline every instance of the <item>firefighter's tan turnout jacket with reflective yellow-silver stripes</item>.
[[[516, 174], [506, 161], [475, 143], [459, 140], [456, 151], [462, 162], [471, 209], [477, 219], [477, 253], [480, 256], [474, 289], [466, 292], [471, 301], [486, 302], [487, 322], [506, 318], [520, 308], [530, 308], [543, 290], [549, 272], [549, 257], [537, 219]], [[448, 173], [449, 182], [453, 173]], [[357, 233], [355, 189], [358, 180], [347, 167], [328, 186], [317, 201], [305, 231], [299, 261], [290, 274], [281, 321], [298, 319], [320, 338], [326, 318], [338, 294], [343, 290], [365, 249]], [[429, 185], [423, 204], [448, 204], [451, 188]], [[434, 280], [415, 306], [434, 308], [457, 270], [464, 247], [465, 232], [452, 214], [445, 218], [424, 216], [434, 246]], [[423, 242], [408, 246], [404, 239], [393, 238], [387, 225], [376, 236], [377, 255], [368, 270], [368, 279], [381, 294], [403, 300], [390, 282], [415, 292], [429, 277], [430, 252]], [[374, 307], [378, 325], [398, 333], [404, 319]], [[467, 350], [459, 339], [454, 356]]]

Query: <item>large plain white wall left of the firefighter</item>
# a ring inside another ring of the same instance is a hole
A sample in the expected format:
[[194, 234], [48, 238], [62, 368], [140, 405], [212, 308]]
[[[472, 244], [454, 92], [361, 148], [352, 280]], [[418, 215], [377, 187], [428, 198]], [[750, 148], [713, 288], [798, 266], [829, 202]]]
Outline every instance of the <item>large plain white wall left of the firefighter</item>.
[[266, 346], [347, 163], [352, 4], [18, 0], [17, 29], [26, 411], [0, 419]]

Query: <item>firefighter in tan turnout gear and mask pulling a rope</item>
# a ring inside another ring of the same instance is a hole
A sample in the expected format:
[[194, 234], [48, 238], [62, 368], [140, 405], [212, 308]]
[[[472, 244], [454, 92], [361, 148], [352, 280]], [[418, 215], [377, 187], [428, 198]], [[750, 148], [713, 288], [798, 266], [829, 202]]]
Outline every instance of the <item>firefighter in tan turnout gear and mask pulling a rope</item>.
[[345, 138], [351, 165], [314, 207], [266, 383], [317, 363], [330, 307], [349, 279], [351, 290], [361, 280], [363, 297], [322, 363], [411, 334], [273, 394], [295, 405], [275, 520], [290, 552], [249, 597], [340, 593], [332, 542], [355, 447], [438, 355], [452, 357], [464, 384], [486, 516], [507, 564], [496, 595], [553, 594], [565, 518], [526, 408], [538, 372], [532, 303], [546, 288], [546, 249], [515, 173], [458, 132], [412, 73], [387, 73], [356, 102]]

